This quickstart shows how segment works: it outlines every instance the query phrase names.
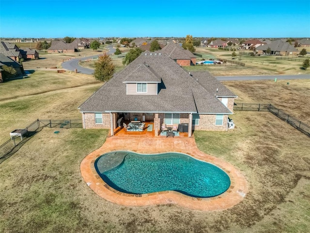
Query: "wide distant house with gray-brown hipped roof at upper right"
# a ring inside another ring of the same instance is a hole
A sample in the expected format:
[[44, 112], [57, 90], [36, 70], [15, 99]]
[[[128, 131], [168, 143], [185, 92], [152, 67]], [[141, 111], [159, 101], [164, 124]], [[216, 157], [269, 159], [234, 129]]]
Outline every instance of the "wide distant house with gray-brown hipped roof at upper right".
[[283, 42], [282, 40], [275, 40], [267, 45], [262, 45], [256, 48], [258, 54], [268, 54], [267, 50], [270, 48], [271, 55], [280, 55], [280, 56], [289, 56], [289, 55], [298, 55], [299, 51], [294, 48], [293, 45], [290, 45], [289, 42]]

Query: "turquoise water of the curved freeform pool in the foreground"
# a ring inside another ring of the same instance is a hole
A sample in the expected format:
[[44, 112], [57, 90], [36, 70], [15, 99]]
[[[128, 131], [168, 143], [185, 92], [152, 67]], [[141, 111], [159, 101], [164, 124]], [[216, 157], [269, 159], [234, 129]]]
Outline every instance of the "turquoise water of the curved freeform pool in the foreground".
[[109, 186], [131, 194], [174, 190], [206, 198], [220, 195], [231, 184], [219, 167], [182, 153], [113, 151], [98, 157], [94, 166]]

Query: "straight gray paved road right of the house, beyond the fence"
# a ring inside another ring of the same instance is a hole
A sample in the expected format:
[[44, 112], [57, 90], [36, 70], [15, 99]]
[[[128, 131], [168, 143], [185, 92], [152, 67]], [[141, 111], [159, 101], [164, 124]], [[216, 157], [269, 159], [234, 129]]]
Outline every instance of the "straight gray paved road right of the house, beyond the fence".
[[290, 75], [247, 75], [247, 76], [216, 76], [219, 81], [240, 81], [240, 80], [274, 80], [279, 79], [310, 79], [310, 74]]

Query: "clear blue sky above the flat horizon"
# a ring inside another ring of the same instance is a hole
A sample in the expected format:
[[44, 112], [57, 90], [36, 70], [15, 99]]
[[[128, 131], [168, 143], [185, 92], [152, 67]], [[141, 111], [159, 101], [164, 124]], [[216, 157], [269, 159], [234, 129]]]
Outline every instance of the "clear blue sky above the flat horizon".
[[310, 0], [0, 0], [0, 37], [310, 37]]

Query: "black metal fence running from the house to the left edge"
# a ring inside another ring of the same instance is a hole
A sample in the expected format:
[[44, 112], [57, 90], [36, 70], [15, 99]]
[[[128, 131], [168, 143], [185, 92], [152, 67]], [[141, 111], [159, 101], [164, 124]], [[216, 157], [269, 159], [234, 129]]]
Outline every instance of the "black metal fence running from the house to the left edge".
[[[42, 128], [82, 128], [82, 119], [73, 120], [35, 120], [29, 126], [23, 128], [27, 131], [25, 135], [15, 135], [5, 143], [0, 145], [0, 159], [16, 152], [21, 145], [27, 142], [34, 134], [40, 132]], [[24, 136], [24, 138], [23, 138]]]

